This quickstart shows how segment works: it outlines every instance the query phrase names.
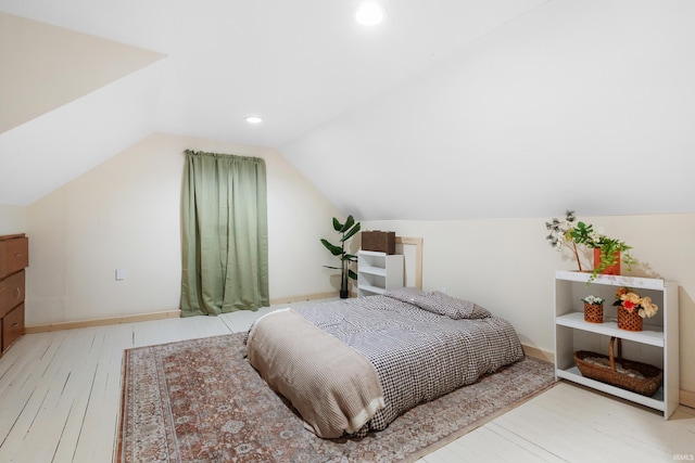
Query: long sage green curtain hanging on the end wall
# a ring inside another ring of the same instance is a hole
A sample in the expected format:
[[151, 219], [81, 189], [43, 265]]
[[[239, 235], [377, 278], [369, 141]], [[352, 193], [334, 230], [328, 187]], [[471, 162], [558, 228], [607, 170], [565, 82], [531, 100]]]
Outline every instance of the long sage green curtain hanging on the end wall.
[[185, 154], [181, 317], [269, 306], [265, 160]]

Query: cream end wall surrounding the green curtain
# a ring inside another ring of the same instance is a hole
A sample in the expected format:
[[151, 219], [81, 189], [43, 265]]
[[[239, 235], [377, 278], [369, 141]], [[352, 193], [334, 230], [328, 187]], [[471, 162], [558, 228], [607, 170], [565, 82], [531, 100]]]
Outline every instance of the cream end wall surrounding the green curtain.
[[279, 153], [154, 134], [26, 208], [28, 326], [179, 308], [187, 149], [266, 160], [271, 299], [337, 291], [319, 239], [339, 213]]

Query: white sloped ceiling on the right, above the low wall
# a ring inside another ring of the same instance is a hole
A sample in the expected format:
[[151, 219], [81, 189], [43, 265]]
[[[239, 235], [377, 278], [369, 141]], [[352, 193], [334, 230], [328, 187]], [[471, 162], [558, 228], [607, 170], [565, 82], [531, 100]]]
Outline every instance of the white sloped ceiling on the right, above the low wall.
[[283, 153], [356, 217], [692, 213], [694, 24], [692, 1], [552, 1]]

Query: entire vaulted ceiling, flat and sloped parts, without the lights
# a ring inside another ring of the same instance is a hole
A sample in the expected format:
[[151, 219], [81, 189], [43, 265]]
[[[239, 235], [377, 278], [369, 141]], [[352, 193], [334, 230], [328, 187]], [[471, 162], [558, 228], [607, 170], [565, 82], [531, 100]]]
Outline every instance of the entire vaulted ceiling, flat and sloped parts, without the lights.
[[160, 131], [275, 147], [362, 219], [693, 211], [695, 2], [359, 3], [0, 0], [0, 204]]

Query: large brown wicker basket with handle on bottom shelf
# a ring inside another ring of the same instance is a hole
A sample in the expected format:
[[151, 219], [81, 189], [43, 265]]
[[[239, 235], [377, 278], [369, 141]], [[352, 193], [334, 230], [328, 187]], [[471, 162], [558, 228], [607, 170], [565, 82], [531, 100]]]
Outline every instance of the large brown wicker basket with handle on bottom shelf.
[[[617, 358], [614, 356], [614, 345], [616, 344], [616, 339], [618, 339]], [[610, 338], [608, 357], [586, 350], [579, 350], [574, 352], [574, 363], [577, 363], [577, 368], [585, 377], [601, 381], [602, 383], [608, 383], [622, 389], [642, 394], [643, 396], [654, 396], [659, 387], [661, 387], [661, 382], [664, 381], [664, 371], [647, 363], [622, 359], [621, 350], [622, 340], [614, 336]], [[601, 365], [586, 361], [585, 359], [590, 357], [608, 359], [609, 365]], [[628, 374], [617, 372], [616, 362], [622, 364], [622, 368], [626, 370], [634, 370], [636, 372], [640, 372], [644, 376], [644, 378], [633, 377], [629, 376]]]

